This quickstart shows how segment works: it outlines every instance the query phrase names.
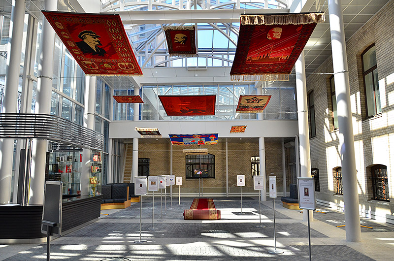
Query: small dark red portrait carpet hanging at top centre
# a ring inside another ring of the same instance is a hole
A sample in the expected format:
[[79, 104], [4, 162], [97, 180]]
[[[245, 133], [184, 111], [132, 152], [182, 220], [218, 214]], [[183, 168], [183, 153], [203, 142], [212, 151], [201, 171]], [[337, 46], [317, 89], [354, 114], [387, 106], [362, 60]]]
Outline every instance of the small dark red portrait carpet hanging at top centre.
[[170, 56], [193, 57], [196, 55], [195, 26], [164, 26]]

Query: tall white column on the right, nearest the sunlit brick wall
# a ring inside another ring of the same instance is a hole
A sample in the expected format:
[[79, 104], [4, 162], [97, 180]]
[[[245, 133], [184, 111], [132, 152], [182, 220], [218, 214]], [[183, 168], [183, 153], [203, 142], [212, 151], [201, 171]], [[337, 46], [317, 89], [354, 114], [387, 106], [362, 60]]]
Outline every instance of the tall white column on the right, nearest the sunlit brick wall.
[[338, 113], [339, 152], [342, 162], [346, 240], [350, 242], [360, 242], [359, 195], [350, 104], [349, 72], [341, 1], [328, 0], [328, 13], [331, 32], [336, 108]]

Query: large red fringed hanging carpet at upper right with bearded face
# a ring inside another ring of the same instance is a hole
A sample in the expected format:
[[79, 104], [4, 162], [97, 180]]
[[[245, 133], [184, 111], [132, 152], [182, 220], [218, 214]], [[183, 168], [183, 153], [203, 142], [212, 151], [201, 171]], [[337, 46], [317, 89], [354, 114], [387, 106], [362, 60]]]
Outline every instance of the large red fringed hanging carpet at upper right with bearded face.
[[235, 81], [288, 81], [324, 13], [241, 15], [230, 75]]

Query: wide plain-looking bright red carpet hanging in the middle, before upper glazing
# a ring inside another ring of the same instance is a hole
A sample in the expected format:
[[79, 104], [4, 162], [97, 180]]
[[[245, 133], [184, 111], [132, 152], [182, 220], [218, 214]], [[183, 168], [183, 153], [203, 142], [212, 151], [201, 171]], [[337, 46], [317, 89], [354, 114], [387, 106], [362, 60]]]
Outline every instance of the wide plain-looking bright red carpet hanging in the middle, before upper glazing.
[[216, 95], [159, 95], [168, 116], [215, 115]]

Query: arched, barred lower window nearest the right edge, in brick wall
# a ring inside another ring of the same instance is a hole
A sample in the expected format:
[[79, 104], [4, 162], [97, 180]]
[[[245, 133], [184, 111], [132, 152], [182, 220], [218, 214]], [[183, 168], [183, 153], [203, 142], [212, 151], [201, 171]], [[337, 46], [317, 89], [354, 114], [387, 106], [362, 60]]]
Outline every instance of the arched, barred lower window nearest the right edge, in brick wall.
[[390, 201], [387, 166], [374, 165], [371, 167], [371, 174], [373, 199]]

